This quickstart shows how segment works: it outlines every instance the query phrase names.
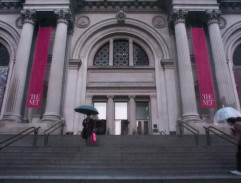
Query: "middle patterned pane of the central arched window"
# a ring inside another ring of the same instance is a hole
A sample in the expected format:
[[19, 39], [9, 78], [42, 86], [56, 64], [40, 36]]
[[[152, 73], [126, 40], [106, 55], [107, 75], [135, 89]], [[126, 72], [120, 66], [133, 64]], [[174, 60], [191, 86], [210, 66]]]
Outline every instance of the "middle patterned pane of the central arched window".
[[114, 41], [113, 64], [129, 65], [129, 42], [127, 40]]

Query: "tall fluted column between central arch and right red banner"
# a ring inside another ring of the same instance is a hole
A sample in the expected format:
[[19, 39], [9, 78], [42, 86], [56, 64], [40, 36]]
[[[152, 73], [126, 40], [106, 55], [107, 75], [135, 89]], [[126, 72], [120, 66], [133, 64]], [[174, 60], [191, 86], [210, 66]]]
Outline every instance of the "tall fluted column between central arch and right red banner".
[[185, 121], [199, 120], [194, 90], [194, 81], [188, 47], [185, 16], [187, 12], [174, 12], [175, 36], [179, 68], [182, 118]]

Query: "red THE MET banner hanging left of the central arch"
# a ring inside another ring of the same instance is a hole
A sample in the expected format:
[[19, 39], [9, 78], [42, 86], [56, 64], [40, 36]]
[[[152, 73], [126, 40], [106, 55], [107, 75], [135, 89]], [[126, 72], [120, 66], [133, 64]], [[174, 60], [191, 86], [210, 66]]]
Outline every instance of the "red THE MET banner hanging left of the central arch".
[[38, 31], [27, 108], [41, 107], [51, 31], [51, 28], [39, 28]]

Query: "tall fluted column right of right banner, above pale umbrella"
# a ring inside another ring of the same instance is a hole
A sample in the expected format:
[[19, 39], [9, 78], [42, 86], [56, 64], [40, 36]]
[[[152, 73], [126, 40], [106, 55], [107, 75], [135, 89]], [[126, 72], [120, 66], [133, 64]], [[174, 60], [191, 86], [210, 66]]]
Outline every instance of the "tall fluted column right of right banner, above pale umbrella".
[[232, 79], [223, 47], [222, 37], [218, 25], [219, 11], [207, 11], [208, 31], [214, 60], [215, 74], [221, 105], [237, 107]]

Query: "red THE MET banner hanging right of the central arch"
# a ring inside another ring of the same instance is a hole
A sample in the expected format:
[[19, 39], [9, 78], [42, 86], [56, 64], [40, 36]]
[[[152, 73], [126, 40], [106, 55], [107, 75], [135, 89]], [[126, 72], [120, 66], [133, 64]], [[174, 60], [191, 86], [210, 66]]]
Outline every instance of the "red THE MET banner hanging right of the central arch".
[[201, 97], [201, 107], [215, 108], [215, 95], [208, 59], [205, 34], [202, 28], [192, 28], [192, 40]]

